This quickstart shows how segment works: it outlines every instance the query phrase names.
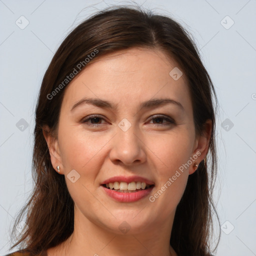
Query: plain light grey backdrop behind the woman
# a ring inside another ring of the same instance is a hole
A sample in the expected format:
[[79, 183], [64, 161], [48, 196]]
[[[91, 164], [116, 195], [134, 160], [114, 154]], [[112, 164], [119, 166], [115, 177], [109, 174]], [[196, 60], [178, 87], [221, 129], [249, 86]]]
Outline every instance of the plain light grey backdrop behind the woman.
[[[222, 230], [215, 254], [256, 255], [256, 1], [136, 2], [174, 17], [189, 29], [200, 48], [220, 103], [219, 174], [214, 198]], [[53, 52], [82, 19], [97, 9], [120, 3], [127, 1], [0, 0], [1, 255], [8, 252], [10, 224], [32, 188], [33, 111]], [[29, 21], [24, 29], [15, 23], [25, 24], [21, 15]], [[229, 27], [232, 20], [234, 24]], [[21, 118], [27, 128], [18, 122]]]

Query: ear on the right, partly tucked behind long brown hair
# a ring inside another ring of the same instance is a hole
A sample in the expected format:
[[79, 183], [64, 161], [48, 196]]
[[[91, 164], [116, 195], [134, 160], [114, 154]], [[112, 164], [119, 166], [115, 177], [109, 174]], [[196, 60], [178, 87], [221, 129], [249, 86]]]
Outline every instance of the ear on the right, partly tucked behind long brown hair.
[[198, 136], [194, 142], [194, 150], [191, 155], [194, 161], [189, 166], [189, 174], [192, 174], [196, 171], [196, 168], [193, 167], [193, 164], [194, 163], [199, 164], [199, 162], [201, 162], [205, 158], [208, 152], [211, 129], [212, 129], [212, 121], [210, 119], [207, 119], [204, 123], [203, 134]]

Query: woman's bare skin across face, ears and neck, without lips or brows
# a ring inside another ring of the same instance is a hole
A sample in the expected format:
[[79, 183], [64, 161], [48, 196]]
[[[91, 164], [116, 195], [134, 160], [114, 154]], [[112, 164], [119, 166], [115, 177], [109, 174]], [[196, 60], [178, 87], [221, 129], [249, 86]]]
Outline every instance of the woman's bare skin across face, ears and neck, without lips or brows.
[[[207, 120], [204, 136], [196, 136], [192, 103], [185, 75], [174, 80], [169, 72], [177, 64], [158, 49], [130, 48], [92, 60], [65, 90], [57, 137], [44, 127], [52, 166], [60, 166], [74, 201], [74, 232], [62, 244], [49, 248], [47, 255], [177, 255], [169, 245], [176, 206], [184, 192], [192, 164], [155, 199], [117, 202], [100, 187], [116, 175], [139, 175], [154, 182], [153, 195], [196, 152], [194, 162], [205, 157], [211, 131]], [[83, 97], [95, 97], [116, 104], [104, 109], [90, 104], [72, 106]], [[171, 98], [175, 104], [140, 109], [151, 98]], [[52, 99], [54, 100], [54, 99]], [[82, 120], [97, 114], [87, 123]], [[175, 123], [157, 119], [166, 115]], [[153, 116], [153, 117], [152, 117]], [[85, 118], [86, 117], [86, 118]], [[126, 118], [127, 131], [118, 123]], [[74, 183], [67, 174], [75, 169]], [[57, 169], [56, 169], [57, 171]], [[123, 234], [119, 225], [130, 229]], [[84, 254], [86, 252], [86, 254]]]

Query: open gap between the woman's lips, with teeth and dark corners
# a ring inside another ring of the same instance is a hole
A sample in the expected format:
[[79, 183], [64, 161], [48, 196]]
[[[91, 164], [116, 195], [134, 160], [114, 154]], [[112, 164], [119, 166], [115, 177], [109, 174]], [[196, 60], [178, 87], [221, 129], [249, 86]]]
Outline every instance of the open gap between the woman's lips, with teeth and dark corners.
[[124, 181], [114, 181], [105, 184], [101, 184], [101, 186], [114, 190], [116, 192], [121, 193], [134, 193], [142, 190], [146, 190], [152, 188], [154, 184], [148, 184], [144, 181], [132, 181], [132, 182], [124, 182]]

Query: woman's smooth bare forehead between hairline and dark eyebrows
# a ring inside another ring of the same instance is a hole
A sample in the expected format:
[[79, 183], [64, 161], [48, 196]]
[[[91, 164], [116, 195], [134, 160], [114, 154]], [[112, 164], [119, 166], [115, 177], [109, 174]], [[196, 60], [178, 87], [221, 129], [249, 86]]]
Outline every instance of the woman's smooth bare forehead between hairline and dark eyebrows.
[[169, 74], [173, 68], [175, 61], [157, 49], [131, 48], [97, 57], [68, 84], [62, 104], [71, 109], [82, 97], [97, 97], [127, 106], [169, 96], [191, 107], [185, 75], [174, 80]]

